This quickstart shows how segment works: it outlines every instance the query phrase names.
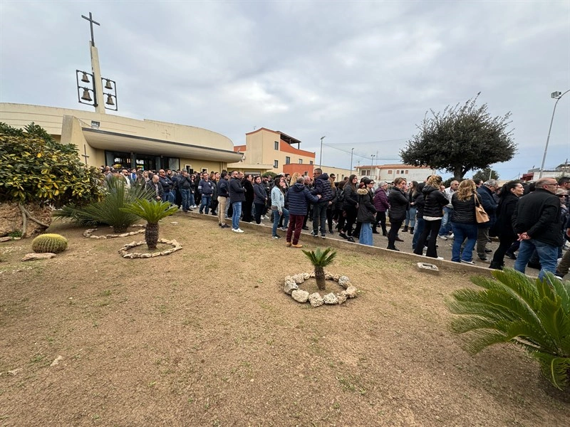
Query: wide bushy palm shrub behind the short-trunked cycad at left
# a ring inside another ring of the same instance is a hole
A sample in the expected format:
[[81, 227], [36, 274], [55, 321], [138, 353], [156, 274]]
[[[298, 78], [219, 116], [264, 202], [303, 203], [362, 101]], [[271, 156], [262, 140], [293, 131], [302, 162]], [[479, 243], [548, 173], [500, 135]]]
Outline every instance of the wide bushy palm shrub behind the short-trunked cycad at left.
[[124, 233], [139, 218], [136, 214], [122, 211], [121, 208], [138, 199], [150, 197], [152, 194], [144, 186], [128, 188], [124, 179], [113, 178], [105, 181], [105, 195], [101, 201], [94, 201], [83, 207], [63, 206], [63, 209], [55, 211], [53, 216], [70, 218], [82, 226], [108, 224], [113, 227], [114, 233]]

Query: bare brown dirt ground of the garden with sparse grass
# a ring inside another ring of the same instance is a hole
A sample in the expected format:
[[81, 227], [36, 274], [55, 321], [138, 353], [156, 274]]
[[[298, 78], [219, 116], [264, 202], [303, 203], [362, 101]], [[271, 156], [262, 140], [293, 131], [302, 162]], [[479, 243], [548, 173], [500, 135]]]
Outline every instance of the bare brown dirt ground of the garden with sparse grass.
[[360, 295], [311, 308], [282, 291], [311, 272], [299, 249], [212, 219], [166, 218], [183, 249], [150, 259], [60, 221], [51, 260], [0, 243], [0, 426], [569, 426], [570, 394], [522, 350], [471, 356], [449, 331], [468, 273], [347, 243], [327, 270]]

